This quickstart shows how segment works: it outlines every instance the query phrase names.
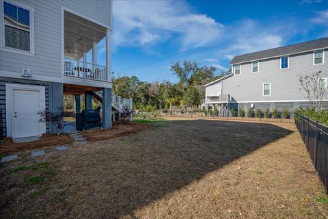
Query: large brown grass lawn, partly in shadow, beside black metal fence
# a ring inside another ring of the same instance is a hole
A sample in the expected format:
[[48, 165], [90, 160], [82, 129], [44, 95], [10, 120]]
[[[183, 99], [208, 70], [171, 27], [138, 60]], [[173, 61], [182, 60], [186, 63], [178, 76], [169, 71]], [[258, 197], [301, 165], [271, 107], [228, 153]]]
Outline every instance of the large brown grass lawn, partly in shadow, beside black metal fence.
[[327, 218], [292, 124], [165, 120], [0, 164], [1, 218]]

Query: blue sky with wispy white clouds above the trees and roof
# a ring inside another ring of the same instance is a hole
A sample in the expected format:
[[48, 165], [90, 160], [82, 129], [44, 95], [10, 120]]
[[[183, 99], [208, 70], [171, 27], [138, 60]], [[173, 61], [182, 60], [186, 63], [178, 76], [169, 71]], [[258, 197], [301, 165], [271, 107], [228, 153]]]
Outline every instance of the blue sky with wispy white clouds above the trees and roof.
[[112, 70], [176, 82], [170, 64], [194, 60], [219, 74], [234, 55], [327, 37], [327, 1], [114, 0]]

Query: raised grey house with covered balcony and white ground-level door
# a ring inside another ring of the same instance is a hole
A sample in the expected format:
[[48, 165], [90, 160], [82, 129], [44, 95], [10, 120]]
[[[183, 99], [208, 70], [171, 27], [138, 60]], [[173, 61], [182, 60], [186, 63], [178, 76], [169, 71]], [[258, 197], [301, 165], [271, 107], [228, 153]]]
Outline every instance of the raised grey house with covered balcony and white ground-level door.
[[[3, 136], [53, 133], [52, 125], [39, 122], [38, 112], [56, 112], [64, 94], [75, 95], [77, 112], [79, 95], [85, 94], [88, 110], [95, 96], [102, 101], [102, 127], [111, 127], [112, 105], [120, 105], [112, 103], [111, 15], [111, 0], [0, 0]], [[97, 43], [102, 39], [104, 65], [97, 62]]]

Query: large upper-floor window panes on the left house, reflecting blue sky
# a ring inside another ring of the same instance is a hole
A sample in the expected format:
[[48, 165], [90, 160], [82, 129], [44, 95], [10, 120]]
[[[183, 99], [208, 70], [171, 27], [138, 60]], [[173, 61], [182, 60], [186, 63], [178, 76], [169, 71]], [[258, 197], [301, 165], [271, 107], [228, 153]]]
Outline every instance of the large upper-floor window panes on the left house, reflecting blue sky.
[[31, 12], [3, 1], [4, 46], [31, 51]]

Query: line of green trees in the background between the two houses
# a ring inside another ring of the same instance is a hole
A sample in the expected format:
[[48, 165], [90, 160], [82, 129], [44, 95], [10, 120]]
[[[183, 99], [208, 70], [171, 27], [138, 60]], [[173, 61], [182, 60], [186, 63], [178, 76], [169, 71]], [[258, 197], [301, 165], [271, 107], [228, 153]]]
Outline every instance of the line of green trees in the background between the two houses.
[[147, 82], [140, 81], [137, 76], [113, 75], [113, 92], [122, 98], [132, 98], [133, 109], [169, 109], [172, 105], [191, 108], [204, 99], [204, 84], [228, 73], [221, 71], [220, 75], [215, 76], [215, 67], [200, 66], [194, 61], [176, 61], [170, 70], [178, 78], [177, 83]]

